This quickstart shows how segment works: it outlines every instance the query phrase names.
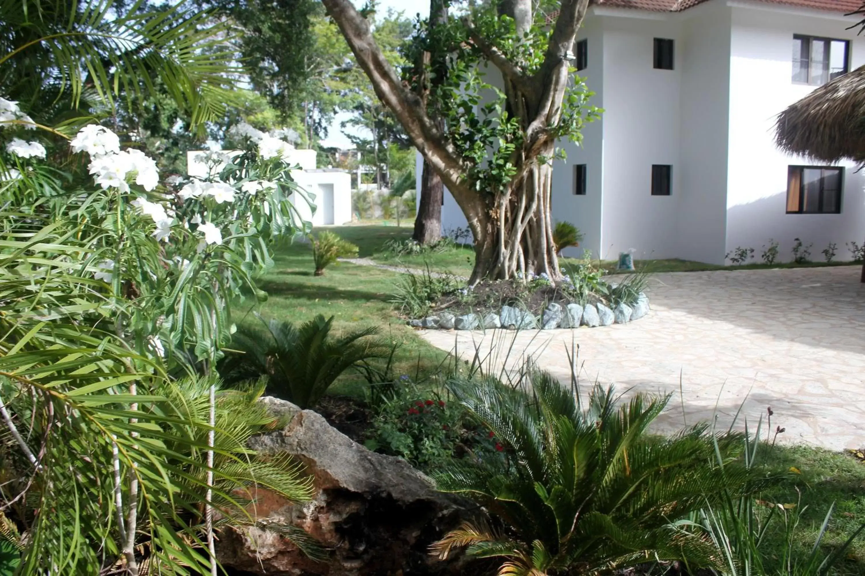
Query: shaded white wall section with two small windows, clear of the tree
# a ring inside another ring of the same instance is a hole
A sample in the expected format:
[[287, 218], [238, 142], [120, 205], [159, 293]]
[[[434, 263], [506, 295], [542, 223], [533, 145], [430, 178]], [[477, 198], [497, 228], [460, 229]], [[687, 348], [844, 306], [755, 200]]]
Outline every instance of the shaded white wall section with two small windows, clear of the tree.
[[[601, 13], [599, 11], [599, 13]], [[633, 249], [638, 258], [677, 255], [681, 195], [680, 25], [670, 15], [618, 10], [603, 18], [603, 226], [600, 256]], [[675, 41], [673, 70], [656, 70], [654, 38]], [[597, 146], [586, 142], [586, 149]], [[652, 164], [672, 165], [670, 196], [651, 195]]]

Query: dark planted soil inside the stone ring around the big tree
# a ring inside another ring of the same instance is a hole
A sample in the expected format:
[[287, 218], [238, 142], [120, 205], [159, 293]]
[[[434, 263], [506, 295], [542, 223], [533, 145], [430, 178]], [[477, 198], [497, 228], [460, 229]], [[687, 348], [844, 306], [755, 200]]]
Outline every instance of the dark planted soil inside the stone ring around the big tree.
[[[548, 304], [555, 302], [562, 307], [577, 303], [564, 290], [554, 286], [533, 288], [519, 282], [482, 282], [468, 294], [454, 292], [445, 294], [433, 307], [433, 313], [450, 312], [460, 315], [467, 313], [498, 313], [503, 306], [519, 307], [535, 316], [541, 316]], [[590, 295], [588, 304], [599, 299]]]

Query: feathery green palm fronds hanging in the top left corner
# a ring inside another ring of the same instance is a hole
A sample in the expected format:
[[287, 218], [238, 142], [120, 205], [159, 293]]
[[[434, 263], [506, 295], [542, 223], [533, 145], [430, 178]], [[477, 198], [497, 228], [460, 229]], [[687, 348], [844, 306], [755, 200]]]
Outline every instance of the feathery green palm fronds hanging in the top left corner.
[[110, 113], [118, 98], [131, 107], [149, 92], [167, 94], [201, 126], [233, 99], [228, 28], [207, 11], [0, 0], [0, 24], [0, 97], [37, 120], [68, 115], [82, 100]]

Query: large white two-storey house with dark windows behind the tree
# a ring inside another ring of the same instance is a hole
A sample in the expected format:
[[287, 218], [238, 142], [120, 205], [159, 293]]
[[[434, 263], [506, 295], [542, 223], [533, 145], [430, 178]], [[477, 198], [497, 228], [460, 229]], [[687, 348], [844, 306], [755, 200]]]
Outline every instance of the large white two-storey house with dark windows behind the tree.
[[[594, 3], [575, 64], [604, 109], [581, 147], [560, 142], [553, 215], [583, 247], [612, 259], [724, 263], [774, 239], [865, 238], [865, 180], [856, 167], [812, 166], [773, 142], [775, 118], [835, 74], [865, 64], [865, 37], [843, 16], [860, 0], [610, 0]], [[420, 171], [419, 171], [420, 174]], [[443, 228], [465, 226], [446, 194]], [[566, 252], [568, 254], [568, 252]]]

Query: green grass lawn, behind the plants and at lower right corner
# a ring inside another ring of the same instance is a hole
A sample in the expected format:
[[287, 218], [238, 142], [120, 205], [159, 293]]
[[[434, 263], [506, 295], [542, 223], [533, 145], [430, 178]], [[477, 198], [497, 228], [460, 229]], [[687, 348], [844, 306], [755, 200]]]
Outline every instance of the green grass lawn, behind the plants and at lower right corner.
[[[425, 264], [425, 259], [420, 256], [396, 259], [381, 251], [381, 244], [388, 238], [410, 237], [412, 229], [408, 225], [399, 228], [351, 225], [335, 227], [333, 231], [357, 244], [359, 256], [416, 268]], [[468, 275], [471, 261], [466, 262], [466, 256], [471, 258], [471, 250], [455, 248], [432, 254], [426, 261], [433, 269]], [[397, 374], [414, 375], [420, 371], [423, 379], [425, 375], [441, 373], [443, 364], [450, 364], [445, 352], [426, 344], [394, 313], [388, 300], [398, 274], [368, 266], [336, 263], [326, 269], [324, 276], [314, 276], [310, 245], [298, 242], [280, 246], [275, 261], [270, 273], [260, 279], [260, 287], [269, 294], [268, 300], [259, 308], [264, 318], [302, 322], [318, 313], [333, 315], [336, 316], [336, 332], [359, 326], [380, 326], [382, 336], [400, 343], [396, 356]], [[656, 271], [722, 268], [681, 260], [640, 261], [638, 266]], [[250, 315], [244, 321], [257, 320]], [[365, 389], [362, 377], [349, 373], [336, 383], [330, 393], [362, 397]], [[802, 503], [808, 508], [799, 527], [798, 547], [804, 549], [813, 544], [823, 517], [833, 502], [836, 503], [836, 513], [825, 539], [828, 546], [840, 544], [845, 535], [865, 522], [865, 464], [847, 454], [809, 446], [776, 446], [769, 452], [767, 458], [773, 467], [780, 470], [794, 467], [801, 472], [772, 494], [764, 495], [764, 499], [771, 501], [797, 503], [797, 488], [801, 491]], [[855, 542], [850, 558], [836, 573], [843, 576], [865, 573], [865, 536]]]

